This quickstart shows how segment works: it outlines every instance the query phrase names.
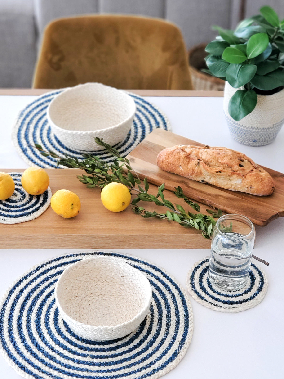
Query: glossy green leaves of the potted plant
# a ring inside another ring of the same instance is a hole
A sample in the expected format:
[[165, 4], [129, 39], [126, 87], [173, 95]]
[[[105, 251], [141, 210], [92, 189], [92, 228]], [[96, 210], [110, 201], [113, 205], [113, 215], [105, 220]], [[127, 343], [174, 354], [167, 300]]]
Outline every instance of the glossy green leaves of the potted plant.
[[243, 20], [236, 29], [214, 26], [219, 35], [210, 42], [205, 58], [210, 75], [227, 80], [238, 89], [229, 100], [228, 111], [240, 121], [251, 113], [257, 93], [272, 94], [284, 86], [284, 20], [270, 6]]

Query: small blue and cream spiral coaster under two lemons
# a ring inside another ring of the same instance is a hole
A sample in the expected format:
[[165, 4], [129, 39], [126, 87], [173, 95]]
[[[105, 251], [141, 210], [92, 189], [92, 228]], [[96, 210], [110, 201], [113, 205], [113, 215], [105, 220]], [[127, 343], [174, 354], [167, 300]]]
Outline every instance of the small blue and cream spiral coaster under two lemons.
[[7, 200], [0, 200], [0, 223], [19, 224], [39, 217], [47, 210], [51, 199], [51, 189], [37, 196], [29, 195], [22, 187], [19, 172], [10, 172], [14, 180], [15, 191]]

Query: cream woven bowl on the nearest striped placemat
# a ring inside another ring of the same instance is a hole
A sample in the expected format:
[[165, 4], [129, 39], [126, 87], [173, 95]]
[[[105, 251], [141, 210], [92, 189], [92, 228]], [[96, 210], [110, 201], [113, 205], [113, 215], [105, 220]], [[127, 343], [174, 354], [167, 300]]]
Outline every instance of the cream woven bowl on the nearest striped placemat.
[[122, 258], [98, 255], [66, 268], [55, 287], [64, 321], [80, 337], [108, 341], [133, 332], [147, 315], [147, 277]]

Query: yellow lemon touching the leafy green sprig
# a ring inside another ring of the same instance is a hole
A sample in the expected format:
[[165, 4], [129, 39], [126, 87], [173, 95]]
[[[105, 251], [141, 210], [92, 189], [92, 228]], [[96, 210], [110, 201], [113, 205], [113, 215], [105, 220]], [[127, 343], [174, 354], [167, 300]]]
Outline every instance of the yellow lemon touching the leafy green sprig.
[[120, 212], [130, 204], [131, 194], [124, 184], [112, 182], [101, 191], [101, 201], [109, 211]]

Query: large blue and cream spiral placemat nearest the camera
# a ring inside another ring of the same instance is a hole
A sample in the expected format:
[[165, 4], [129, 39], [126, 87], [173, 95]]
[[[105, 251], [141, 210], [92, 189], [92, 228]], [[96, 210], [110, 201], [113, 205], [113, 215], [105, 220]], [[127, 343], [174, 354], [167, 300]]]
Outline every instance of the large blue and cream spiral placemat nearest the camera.
[[[55, 284], [67, 266], [86, 257], [123, 258], [147, 274], [150, 312], [137, 330], [113, 341], [76, 336], [55, 304]], [[169, 274], [141, 258], [113, 252], [79, 252], [34, 266], [16, 280], [0, 304], [0, 349], [25, 378], [158, 378], [183, 358], [193, 332], [189, 298]]]

